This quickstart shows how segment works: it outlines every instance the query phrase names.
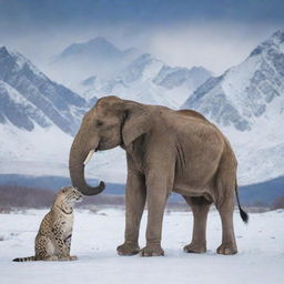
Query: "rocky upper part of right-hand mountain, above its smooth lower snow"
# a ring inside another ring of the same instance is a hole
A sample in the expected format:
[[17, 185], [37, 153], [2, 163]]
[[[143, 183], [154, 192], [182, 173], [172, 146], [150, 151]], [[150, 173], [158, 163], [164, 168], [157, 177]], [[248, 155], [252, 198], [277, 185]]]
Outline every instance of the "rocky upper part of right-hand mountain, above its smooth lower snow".
[[282, 106], [275, 109], [274, 104], [284, 104], [283, 36], [283, 31], [275, 32], [244, 62], [197, 88], [184, 106], [241, 131], [252, 130], [263, 115], [275, 115], [275, 111], [280, 114]]

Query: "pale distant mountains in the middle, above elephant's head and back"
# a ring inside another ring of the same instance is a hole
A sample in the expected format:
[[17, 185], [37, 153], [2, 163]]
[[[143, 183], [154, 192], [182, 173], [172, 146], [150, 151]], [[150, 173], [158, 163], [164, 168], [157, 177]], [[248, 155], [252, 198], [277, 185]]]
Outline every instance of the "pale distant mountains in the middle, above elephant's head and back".
[[138, 49], [120, 50], [101, 37], [69, 45], [50, 68], [57, 80], [90, 104], [97, 97], [113, 94], [179, 109], [190, 92], [212, 77], [202, 67], [170, 67]]

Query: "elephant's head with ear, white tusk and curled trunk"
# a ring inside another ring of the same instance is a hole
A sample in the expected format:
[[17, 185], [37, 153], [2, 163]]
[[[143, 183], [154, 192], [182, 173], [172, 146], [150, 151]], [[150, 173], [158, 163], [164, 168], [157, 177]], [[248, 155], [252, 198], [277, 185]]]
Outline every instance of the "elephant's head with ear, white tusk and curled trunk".
[[84, 165], [97, 151], [129, 146], [150, 128], [145, 105], [105, 97], [85, 113], [70, 150], [69, 170], [73, 186], [85, 195], [94, 195], [105, 187], [104, 182], [90, 186], [84, 179]]

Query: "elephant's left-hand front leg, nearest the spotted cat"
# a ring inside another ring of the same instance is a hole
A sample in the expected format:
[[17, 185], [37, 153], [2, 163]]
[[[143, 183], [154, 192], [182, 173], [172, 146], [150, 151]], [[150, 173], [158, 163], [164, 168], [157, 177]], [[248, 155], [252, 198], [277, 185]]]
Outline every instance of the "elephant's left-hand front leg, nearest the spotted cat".
[[119, 255], [134, 255], [140, 251], [138, 237], [145, 199], [144, 178], [139, 173], [130, 172], [125, 192], [125, 241], [116, 248]]

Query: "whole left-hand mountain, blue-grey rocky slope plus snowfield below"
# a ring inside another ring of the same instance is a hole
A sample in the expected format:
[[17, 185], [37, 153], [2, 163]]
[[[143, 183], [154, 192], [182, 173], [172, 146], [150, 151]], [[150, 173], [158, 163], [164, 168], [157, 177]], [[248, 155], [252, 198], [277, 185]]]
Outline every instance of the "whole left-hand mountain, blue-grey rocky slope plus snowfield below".
[[72, 135], [88, 103], [28, 59], [0, 48], [0, 173], [68, 175]]

